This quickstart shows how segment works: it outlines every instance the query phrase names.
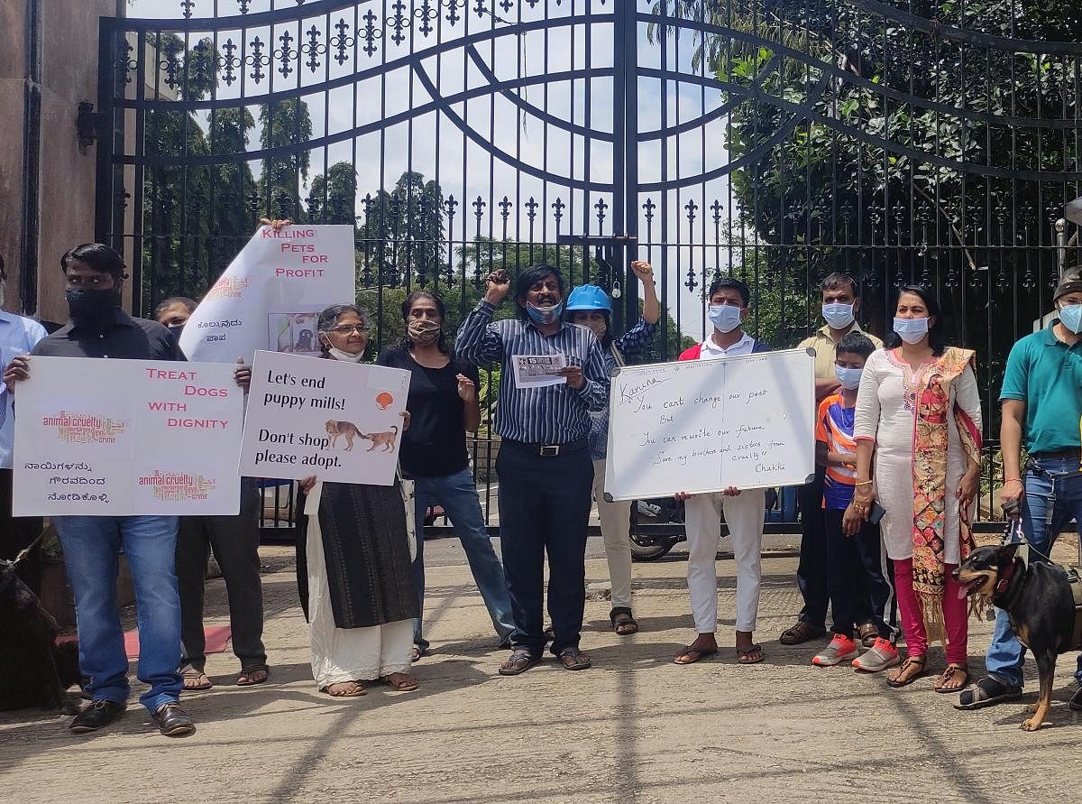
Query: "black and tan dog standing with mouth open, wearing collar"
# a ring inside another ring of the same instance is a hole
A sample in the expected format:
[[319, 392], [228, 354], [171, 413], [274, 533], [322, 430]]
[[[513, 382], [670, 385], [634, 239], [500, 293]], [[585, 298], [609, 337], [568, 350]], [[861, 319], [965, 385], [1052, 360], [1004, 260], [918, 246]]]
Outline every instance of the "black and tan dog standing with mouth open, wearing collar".
[[1052, 706], [1056, 657], [1080, 646], [1067, 571], [1041, 561], [1027, 567], [1017, 549], [1017, 544], [979, 547], [954, 570], [954, 578], [966, 585], [966, 595], [978, 613], [989, 605], [1007, 612], [1018, 641], [1033, 652], [1040, 692], [1029, 708], [1032, 717], [1021, 728], [1034, 731]]

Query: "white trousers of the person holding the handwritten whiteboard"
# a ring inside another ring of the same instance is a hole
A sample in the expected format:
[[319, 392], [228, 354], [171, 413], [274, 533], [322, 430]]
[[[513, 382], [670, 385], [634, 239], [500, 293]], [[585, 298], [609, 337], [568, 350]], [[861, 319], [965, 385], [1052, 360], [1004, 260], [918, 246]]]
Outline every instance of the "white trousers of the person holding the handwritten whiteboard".
[[695, 630], [717, 630], [717, 570], [715, 560], [722, 536], [722, 511], [729, 526], [737, 565], [737, 631], [754, 631], [758, 613], [758, 582], [763, 570], [763, 515], [766, 492], [747, 489], [735, 497], [696, 494], [684, 506], [687, 531], [687, 591], [691, 598]]

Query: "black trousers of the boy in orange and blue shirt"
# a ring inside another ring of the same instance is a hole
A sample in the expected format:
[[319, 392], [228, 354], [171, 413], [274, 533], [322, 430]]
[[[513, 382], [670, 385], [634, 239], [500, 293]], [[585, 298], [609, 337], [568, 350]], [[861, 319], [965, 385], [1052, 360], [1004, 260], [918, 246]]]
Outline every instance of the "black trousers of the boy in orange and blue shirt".
[[899, 634], [894, 565], [883, 560], [879, 526], [865, 522], [857, 535], [847, 536], [842, 531], [843, 513], [826, 511], [831, 631], [852, 636], [858, 625], [873, 622], [880, 636], [893, 643]]

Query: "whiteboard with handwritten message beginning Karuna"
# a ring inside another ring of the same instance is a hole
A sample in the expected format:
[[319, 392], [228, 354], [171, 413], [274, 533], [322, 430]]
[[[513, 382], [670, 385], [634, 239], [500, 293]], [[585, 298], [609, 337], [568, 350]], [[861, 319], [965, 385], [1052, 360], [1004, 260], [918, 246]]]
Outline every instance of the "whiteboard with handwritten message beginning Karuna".
[[814, 422], [812, 350], [620, 368], [609, 393], [606, 497], [806, 483]]

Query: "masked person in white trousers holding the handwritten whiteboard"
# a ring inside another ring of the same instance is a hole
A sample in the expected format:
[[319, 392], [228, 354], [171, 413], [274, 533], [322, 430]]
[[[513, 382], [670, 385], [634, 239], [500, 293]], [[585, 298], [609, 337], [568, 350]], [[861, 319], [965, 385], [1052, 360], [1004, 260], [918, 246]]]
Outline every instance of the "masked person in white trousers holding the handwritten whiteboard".
[[[739, 354], [768, 352], [767, 343], [755, 340], [742, 327], [748, 317], [751, 291], [740, 280], [723, 276], [710, 286], [708, 315], [713, 334], [702, 343], [679, 355], [681, 360], [716, 360]], [[691, 664], [717, 652], [717, 542], [722, 514], [733, 537], [733, 557], [737, 563], [737, 656], [741, 664], [763, 661], [763, 648], [753, 643], [755, 615], [758, 612], [760, 559], [763, 546], [763, 515], [766, 492], [763, 489], [730, 487], [721, 492], [688, 495], [685, 500], [687, 531], [687, 591], [698, 636], [683, 648], [673, 661]]]

